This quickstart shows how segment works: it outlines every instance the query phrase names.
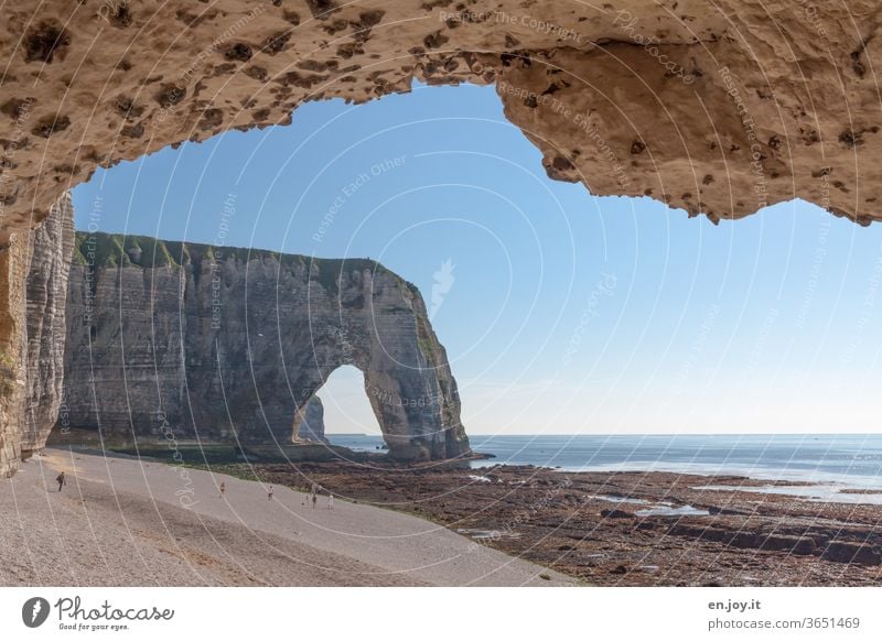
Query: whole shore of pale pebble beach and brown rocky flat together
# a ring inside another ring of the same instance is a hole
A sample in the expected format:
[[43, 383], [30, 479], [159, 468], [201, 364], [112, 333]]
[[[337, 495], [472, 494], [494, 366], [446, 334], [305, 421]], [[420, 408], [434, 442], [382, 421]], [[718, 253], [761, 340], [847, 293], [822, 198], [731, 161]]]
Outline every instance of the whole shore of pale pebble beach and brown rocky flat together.
[[[13, 477], [18, 485], [0, 493], [10, 503], [0, 507], [18, 511], [7, 528], [17, 521], [52, 528], [18, 526], [40, 531], [36, 542], [2, 533], [11, 542], [3, 554], [19, 571], [0, 582], [863, 586], [882, 576], [875, 489], [383, 457], [248, 464], [219, 457], [194, 465], [194, 454], [178, 465], [168, 453], [161, 459], [52, 448], [29, 460]], [[49, 491], [61, 468], [76, 479], [76, 495]], [[225, 499], [217, 495], [222, 480], [232, 490]], [[324, 498], [319, 509], [309, 507], [303, 490], [313, 484], [335, 495], [335, 510]], [[23, 489], [30, 500], [22, 500]], [[39, 517], [34, 506], [42, 506]], [[114, 532], [128, 555], [116, 555], [107, 539]], [[56, 562], [22, 564], [34, 545], [54, 547], [55, 558], [79, 569], [41, 577], [37, 568]], [[78, 548], [92, 550], [90, 558], [71, 552]], [[103, 558], [108, 548], [115, 561]], [[100, 564], [114, 572], [96, 575]]]

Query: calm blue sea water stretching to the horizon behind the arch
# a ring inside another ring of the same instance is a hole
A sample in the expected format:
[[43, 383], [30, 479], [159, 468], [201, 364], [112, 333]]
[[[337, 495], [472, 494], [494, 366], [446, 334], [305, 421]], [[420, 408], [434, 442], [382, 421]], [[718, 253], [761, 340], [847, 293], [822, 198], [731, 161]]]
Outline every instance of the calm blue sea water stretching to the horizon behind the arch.
[[[333, 443], [375, 450], [380, 436], [330, 435]], [[496, 458], [570, 471], [674, 471], [882, 488], [882, 434], [471, 436]]]

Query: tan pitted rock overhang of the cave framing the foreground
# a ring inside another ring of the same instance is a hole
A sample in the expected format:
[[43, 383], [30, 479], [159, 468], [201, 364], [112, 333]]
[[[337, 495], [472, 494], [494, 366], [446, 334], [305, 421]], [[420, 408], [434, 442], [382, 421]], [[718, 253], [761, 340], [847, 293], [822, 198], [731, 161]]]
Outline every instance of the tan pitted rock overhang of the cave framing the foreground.
[[0, 472], [20, 450], [30, 230], [97, 166], [304, 101], [495, 83], [551, 177], [713, 221], [879, 220], [878, 3], [61, 0], [4, 7]]

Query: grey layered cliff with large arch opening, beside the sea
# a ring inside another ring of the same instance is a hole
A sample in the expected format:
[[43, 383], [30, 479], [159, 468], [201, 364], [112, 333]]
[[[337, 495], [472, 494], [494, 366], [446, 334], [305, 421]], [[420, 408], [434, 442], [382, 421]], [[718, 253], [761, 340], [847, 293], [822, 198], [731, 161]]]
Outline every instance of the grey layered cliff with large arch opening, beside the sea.
[[72, 425], [127, 439], [321, 439], [311, 401], [353, 365], [392, 456], [469, 450], [422, 297], [373, 261], [78, 233], [67, 314]]

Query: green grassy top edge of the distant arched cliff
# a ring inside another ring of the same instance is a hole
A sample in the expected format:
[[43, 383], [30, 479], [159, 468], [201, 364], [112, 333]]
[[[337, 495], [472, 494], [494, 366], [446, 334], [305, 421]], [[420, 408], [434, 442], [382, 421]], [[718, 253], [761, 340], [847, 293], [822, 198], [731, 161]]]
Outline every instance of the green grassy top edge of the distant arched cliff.
[[[266, 259], [276, 260], [286, 265], [300, 263], [306, 269], [311, 268], [315, 280], [325, 290], [336, 290], [337, 278], [344, 270], [349, 273], [370, 270], [374, 273], [391, 275], [419, 295], [416, 285], [377, 261], [365, 258], [312, 258], [299, 253], [280, 253], [268, 249], [216, 247], [198, 242], [160, 240], [149, 236], [77, 231], [74, 240], [73, 262], [95, 268], [158, 268], [200, 264], [203, 260], [217, 260], [218, 262], [235, 260], [246, 263]], [[312, 264], [310, 265], [310, 263]]]

